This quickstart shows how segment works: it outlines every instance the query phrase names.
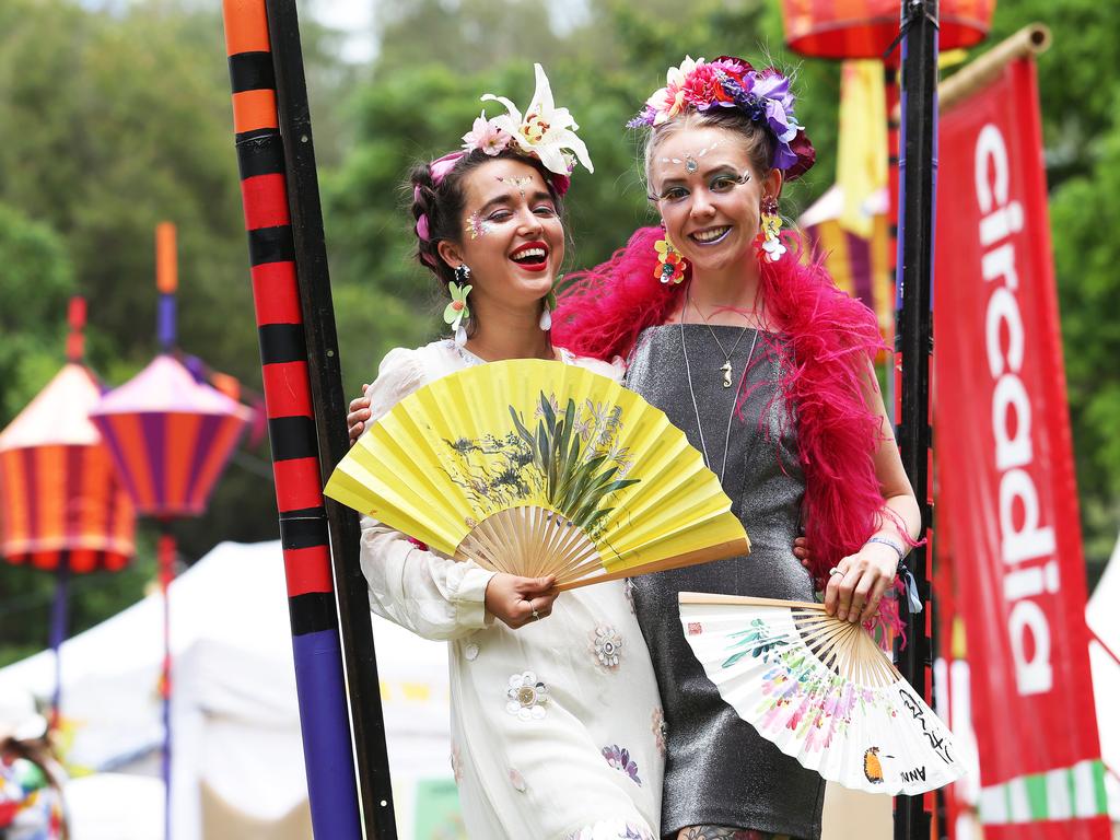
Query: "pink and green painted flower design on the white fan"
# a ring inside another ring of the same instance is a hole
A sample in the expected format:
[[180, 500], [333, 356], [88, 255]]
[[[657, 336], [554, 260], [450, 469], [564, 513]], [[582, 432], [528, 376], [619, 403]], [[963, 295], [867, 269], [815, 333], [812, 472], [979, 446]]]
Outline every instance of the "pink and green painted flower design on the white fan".
[[[763, 700], [757, 711], [763, 716], [759, 728], [777, 731], [793, 729], [804, 736], [809, 748], [820, 750], [829, 746], [832, 737], [846, 732], [858, 707], [875, 706], [894, 710], [881, 691], [860, 688], [827, 668], [816, 656], [800, 645], [792, 644], [785, 634], [773, 636], [760, 618], [750, 622], [747, 629], [731, 634], [728, 659], [724, 668], [731, 668], [744, 656], [762, 657], [769, 665], [763, 675]], [[795, 712], [785, 717], [786, 707]]]

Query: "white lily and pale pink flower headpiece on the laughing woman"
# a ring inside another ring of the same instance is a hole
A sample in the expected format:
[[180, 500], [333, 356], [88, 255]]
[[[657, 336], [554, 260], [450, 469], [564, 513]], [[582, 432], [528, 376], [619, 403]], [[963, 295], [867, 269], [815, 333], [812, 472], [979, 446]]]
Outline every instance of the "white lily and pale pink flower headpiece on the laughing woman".
[[557, 108], [552, 101], [552, 87], [544, 69], [539, 64], [534, 64], [533, 69], [536, 90], [524, 115], [510, 100], [487, 93], [483, 102], [500, 102], [508, 113], [487, 120], [483, 111], [472, 130], [463, 136], [463, 148], [467, 152], [482, 149], [487, 155], [497, 155], [513, 143], [552, 172], [552, 185], [563, 195], [577, 160], [589, 172], [594, 172], [595, 167], [584, 141], [576, 136], [579, 125], [567, 108]]

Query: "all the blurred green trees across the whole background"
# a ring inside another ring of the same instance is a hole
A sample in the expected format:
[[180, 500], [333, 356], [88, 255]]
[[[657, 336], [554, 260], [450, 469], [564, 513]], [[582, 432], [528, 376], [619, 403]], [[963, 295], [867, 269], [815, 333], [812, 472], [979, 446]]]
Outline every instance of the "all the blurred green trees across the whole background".
[[[653, 221], [638, 146], [623, 124], [684, 54], [769, 56], [796, 71], [799, 118], [816, 168], [787, 192], [795, 216], [836, 172], [839, 67], [782, 47], [777, 0], [587, 0], [557, 21], [544, 0], [377, 4], [377, 52], [338, 56], [340, 36], [304, 16], [333, 290], [347, 391], [392, 346], [440, 332], [438, 290], [412, 258], [408, 192], [417, 160], [458, 144], [486, 92], [524, 102], [532, 62], [570, 106], [596, 166], [573, 180], [569, 267], [605, 259]], [[1120, 522], [1120, 7], [1005, 0], [992, 40], [1043, 20], [1039, 60], [1051, 217], [1070, 410], [1091, 580]], [[88, 358], [108, 384], [157, 349], [157, 222], [179, 236], [179, 336], [187, 353], [260, 390], [220, 11], [196, 0], [0, 4], [0, 427], [63, 362], [65, 302], [90, 301]], [[207, 515], [177, 525], [185, 559], [217, 540], [277, 535], [267, 444], [243, 449]], [[136, 600], [137, 567], [74, 590], [75, 631]], [[46, 641], [52, 581], [0, 570], [0, 664]]]

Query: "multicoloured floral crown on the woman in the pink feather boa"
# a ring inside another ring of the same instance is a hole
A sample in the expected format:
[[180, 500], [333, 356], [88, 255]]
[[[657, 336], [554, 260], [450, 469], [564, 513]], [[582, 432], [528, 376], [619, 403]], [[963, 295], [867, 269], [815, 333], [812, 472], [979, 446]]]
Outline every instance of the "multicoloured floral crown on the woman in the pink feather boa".
[[771, 132], [775, 140], [772, 166], [793, 180], [816, 159], [804, 127], [793, 115], [795, 102], [790, 80], [774, 67], [756, 71], [750, 62], [735, 56], [720, 56], [710, 64], [685, 56], [680, 67], [669, 68], [665, 86], [626, 125], [661, 125], [688, 109], [706, 113], [736, 108]]

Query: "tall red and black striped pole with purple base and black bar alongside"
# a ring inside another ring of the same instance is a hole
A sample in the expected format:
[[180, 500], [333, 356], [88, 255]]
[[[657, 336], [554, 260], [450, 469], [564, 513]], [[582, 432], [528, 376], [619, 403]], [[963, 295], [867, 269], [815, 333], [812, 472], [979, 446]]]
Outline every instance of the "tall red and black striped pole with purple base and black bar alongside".
[[345, 452], [345, 407], [295, 2], [223, 11], [312, 829], [361, 840], [361, 780], [367, 840], [395, 840], [357, 520], [321, 493]]

